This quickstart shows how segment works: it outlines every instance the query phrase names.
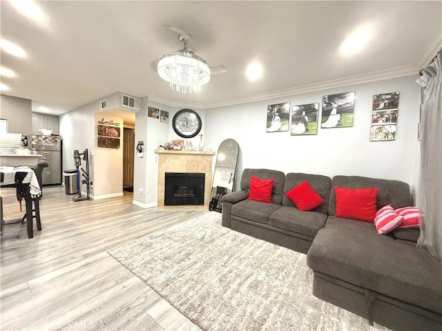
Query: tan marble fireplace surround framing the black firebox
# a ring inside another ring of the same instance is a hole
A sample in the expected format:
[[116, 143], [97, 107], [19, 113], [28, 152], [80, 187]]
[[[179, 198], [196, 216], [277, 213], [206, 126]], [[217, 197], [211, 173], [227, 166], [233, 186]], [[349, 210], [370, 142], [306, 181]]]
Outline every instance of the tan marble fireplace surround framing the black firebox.
[[[212, 190], [212, 163], [215, 152], [155, 150], [158, 155], [157, 210], [209, 210]], [[204, 173], [204, 205], [164, 205], [166, 172]]]

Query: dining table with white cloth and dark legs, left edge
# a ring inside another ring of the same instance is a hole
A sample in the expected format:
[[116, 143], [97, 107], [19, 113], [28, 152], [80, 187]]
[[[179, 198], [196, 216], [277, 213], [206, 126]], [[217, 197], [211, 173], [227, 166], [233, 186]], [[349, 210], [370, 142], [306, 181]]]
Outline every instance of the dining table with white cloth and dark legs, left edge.
[[[17, 200], [24, 199], [26, 202], [26, 225], [28, 230], [28, 238], [34, 237], [34, 229], [32, 219], [36, 219], [37, 229], [41, 231], [39, 197], [41, 196], [41, 188], [34, 170], [27, 166], [20, 167], [0, 167], [0, 185], [15, 187], [17, 190]], [[32, 208], [32, 203], [34, 206]], [[35, 212], [35, 215], [33, 214]], [[1, 232], [3, 234], [3, 225], [10, 223], [17, 223], [17, 220], [6, 220], [3, 218], [3, 199], [0, 195], [0, 218], [1, 218]]]

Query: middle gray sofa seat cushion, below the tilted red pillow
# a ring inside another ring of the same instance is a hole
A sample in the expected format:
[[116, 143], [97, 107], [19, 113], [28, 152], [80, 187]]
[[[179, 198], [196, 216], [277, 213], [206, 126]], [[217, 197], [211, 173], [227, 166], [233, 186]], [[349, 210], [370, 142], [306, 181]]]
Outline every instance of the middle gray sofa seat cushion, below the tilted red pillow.
[[269, 217], [269, 224], [276, 228], [315, 237], [324, 228], [327, 214], [322, 212], [303, 212], [294, 207], [282, 206]]

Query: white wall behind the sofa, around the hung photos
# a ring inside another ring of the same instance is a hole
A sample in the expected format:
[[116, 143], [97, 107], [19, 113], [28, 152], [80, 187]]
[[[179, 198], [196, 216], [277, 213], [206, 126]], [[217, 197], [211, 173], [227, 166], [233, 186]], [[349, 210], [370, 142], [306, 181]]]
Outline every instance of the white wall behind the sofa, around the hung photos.
[[[206, 110], [204, 139], [215, 151], [224, 139], [238, 142], [237, 189], [244, 168], [269, 168], [329, 177], [344, 174], [396, 179], [409, 183], [414, 190], [419, 170], [420, 88], [416, 78], [402, 77]], [[356, 92], [352, 128], [318, 128], [318, 134], [311, 136], [266, 132], [269, 104], [321, 103], [323, 95], [352, 91]], [[388, 92], [400, 92], [396, 140], [369, 141], [373, 95]]]

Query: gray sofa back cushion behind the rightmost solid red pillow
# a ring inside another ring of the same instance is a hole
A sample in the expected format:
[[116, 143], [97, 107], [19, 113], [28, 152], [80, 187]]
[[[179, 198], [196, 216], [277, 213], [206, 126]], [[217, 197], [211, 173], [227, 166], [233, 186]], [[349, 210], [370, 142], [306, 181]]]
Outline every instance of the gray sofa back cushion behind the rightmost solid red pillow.
[[[376, 210], [380, 210], [384, 205], [388, 204], [396, 209], [406, 207], [411, 203], [410, 186], [403, 181], [360, 176], [335, 176], [332, 179], [332, 185], [333, 187], [337, 185], [341, 188], [378, 188]], [[336, 214], [336, 194], [334, 190], [330, 190], [328, 214]]]

